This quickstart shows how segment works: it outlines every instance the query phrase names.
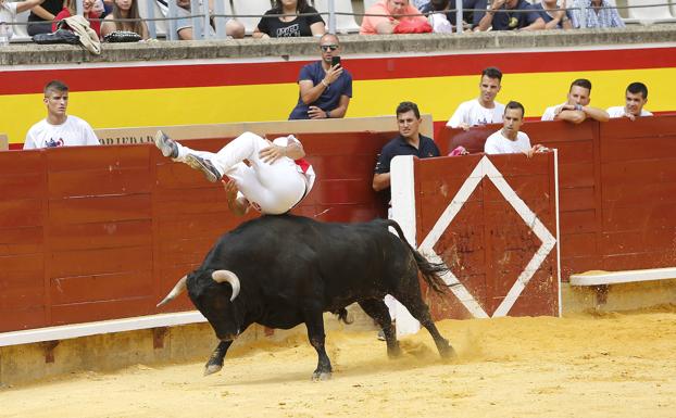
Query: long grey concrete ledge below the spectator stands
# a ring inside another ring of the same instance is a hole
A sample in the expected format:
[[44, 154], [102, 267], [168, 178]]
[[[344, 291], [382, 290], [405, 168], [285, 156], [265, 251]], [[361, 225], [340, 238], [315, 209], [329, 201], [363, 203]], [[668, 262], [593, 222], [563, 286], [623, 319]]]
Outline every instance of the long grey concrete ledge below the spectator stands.
[[[612, 29], [542, 30], [537, 33], [422, 34], [341, 36], [345, 53], [433, 53], [500, 49], [602, 47], [676, 42], [676, 25], [635, 26]], [[83, 48], [35, 43], [10, 45], [0, 54], [2, 65], [116, 63], [167, 60], [260, 59], [289, 60], [316, 56], [316, 39], [239, 39], [213, 41], [158, 41], [103, 43], [100, 55]]]

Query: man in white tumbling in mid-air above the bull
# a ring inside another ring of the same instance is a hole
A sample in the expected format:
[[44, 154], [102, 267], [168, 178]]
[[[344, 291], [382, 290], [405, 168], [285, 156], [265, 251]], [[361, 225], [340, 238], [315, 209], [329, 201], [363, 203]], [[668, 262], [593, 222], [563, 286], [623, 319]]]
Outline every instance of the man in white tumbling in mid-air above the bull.
[[159, 130], [155, 145], [162, 155], [201, 170], [209, 181], [227, 176], [230, 181], [223, 181], [227, 204], [236, 215], [246, 214], [249, 207], [268, 215], [289, 212], [314, 185], [314, 169], [303, 159], [303, 145], [292, 135], [271, 142], [243, 132], [212, 153], [191, 150]]

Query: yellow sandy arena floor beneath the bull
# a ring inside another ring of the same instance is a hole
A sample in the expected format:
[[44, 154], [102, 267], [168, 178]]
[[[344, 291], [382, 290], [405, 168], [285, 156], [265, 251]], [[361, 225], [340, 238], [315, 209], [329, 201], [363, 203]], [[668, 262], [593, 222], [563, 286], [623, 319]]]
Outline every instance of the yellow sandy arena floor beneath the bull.
[[676, 417], [676, 306], [633, 314], [443, 321], [389, 360], [374, 332], [328, 335], [334, 378], [311, 382], [304, 338], [202, 363], [137, 365], [0, 390], [0, 417]]

